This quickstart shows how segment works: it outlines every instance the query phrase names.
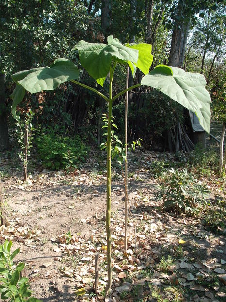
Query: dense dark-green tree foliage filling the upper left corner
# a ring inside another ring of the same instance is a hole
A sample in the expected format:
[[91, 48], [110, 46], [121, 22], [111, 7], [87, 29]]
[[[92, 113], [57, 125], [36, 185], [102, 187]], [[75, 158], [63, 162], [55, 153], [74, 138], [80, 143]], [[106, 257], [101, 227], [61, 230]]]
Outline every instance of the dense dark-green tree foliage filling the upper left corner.
[[[51, 64], [53, 58], [75, 56], [72, 46], [90, 40], [98, 24], [82, 1], [2, 0], [0, 70], [8, 77], [17, 70]], [[92, 32], [91, 32], [92, 30]], [[80, 37], [80, 38], [79, 38]]]

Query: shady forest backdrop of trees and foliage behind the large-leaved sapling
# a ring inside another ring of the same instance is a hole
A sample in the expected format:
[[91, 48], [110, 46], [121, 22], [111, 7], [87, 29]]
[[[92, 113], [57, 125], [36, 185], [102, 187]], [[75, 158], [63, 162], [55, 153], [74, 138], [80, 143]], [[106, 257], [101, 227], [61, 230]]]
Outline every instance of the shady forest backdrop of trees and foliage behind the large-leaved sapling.
[[[0, 147], [9, 148], [8, 127], [15, 123], [10, 114], [14, 89], [11, 75], [19, 70], [50, 65], [65, 57], [78, 64], [71, 51], [80, 40], [104, 42], [113, 34], [122, 43], [152, 44], [154, 61], [205, 75], [212, 97], [213, 118], [225, 122], [225, 1], [197, 0], [3, 0], [0, 4]], [[86, 71], [84, 84], [97, 88]], [[130, 83], [139, 83], [141, 74]], [[131, 83], [130, 85], [132, 85]], [[125, 70], [118, 67], [113, 92], [124, 89]], [[101, 89], [105, 90], [104, 86]], [[100, 87], [98, 87], [100, 89]], [[55, 91], [26, 95], [19, 112], [35, 113], [34, 125], [42, 133], [67, 136], [80, 134], [100, 145], [101, 117], [106, 104], [92, 92], [72, 83]], [[223, 114], [219, 115], [219, 108]], [[215, 115], [214, 115], [215, 113]], [[114, 102], [113, 116], [119, 133], [124, 129], [124, 96]], [[160, 118], [161, 117], [161, 118]], [[155, 150], [176, 148], [174, 129], [187, 116], [182, 106], [157, 91], [137, 88], [129, 95], [130, 139], [142, 138]], [[189, 124], [187, 132], [192, 132]]]

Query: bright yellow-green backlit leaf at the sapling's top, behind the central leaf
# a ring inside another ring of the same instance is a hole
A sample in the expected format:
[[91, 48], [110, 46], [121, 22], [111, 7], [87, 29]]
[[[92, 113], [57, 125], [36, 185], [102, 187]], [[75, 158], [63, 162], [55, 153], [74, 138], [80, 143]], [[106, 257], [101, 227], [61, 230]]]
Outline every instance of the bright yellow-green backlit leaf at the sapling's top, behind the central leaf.
[[[139, 68], [144, 74], [148, 74], [149, 73], [149, 69], [151, 67], [151, 64], [153, 62], [153, 55], [151, 54], [151, 44], [147, 44], [147, 43], [132, 43], [132, 44], [124, 44], [125, 46], [132, 48], [132, 49], [136, 49], [139, 50], [139, 57], [137, 60], [137, 63], [133, 63], [137, 68]], [[135, 68], [131, 67], [133, 64], [132, 62], [128, 62], [131, 71], [133, 73], [133, 77], [135, 75]], [[134, 68], [134, 71], [133, 69]]]

